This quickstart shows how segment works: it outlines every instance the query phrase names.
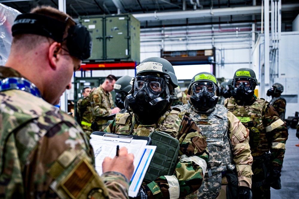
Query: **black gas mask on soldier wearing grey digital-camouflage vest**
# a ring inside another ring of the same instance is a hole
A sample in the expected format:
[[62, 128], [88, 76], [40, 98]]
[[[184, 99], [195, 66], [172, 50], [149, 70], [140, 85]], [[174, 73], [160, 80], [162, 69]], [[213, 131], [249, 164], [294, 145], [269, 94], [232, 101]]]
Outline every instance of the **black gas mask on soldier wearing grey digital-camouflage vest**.
[[214, 83], [196, 82], [192, 85], [192, 92], [193, 95], [190, 97], [190, 101], [193, 107], [201, 112], [214, 109], [218, 102]]

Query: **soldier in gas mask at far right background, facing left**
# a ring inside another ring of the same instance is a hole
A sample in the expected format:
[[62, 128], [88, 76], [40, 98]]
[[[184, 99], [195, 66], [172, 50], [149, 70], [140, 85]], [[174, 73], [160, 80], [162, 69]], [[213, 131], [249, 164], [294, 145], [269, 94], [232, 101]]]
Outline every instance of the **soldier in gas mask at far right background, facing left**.
[[282, 92], [283, 85], [281, 85], [280, 83], [274, 83], [267, 91], [267, 95], [272, 96], [269, 104], [274, 107], [280, 119], [284, 121], [286, 114], [286, 99], [281, 96]]

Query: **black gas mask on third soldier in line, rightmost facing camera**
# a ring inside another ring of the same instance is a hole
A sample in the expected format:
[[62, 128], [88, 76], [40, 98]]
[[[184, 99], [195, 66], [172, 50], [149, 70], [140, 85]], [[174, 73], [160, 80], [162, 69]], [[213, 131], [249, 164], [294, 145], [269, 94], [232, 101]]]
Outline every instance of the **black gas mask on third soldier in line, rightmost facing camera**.
[[[249, 82], [248, 82], [249, 81]], [[251, 79], [246, 79], [242, 81], [242, 79], [234, 79], [233, 80], [234, 89], [231, 90], [231, 95], [235, 100], [239, 100], [240, 102], [248, 102], [251, 101], [254, 95], [254, 82]]]

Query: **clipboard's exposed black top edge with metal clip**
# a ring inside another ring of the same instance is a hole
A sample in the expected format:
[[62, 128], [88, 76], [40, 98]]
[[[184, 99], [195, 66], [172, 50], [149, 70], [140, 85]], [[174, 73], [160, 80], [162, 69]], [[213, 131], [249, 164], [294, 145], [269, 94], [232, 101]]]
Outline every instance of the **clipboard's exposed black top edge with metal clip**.
[[[93, 133], [91, 133], [91, 135], [98, 135], [98, 136], [103, 136], [104, 140], [107, 141], [116, 141], [117, 138], [124, 138], [126, 140], [122, 140], [119, 142], [127, 142], [130, 143], [132, 141], [132, 139], [143, 139], [143, 140], [147, 140], [147, 145], [151, 144], [151, 138], [150, 137], [146, 137], [146, 136], [135, 136], [135, 135], [123, 135], [123, 134], [115, 134], [115, 133], [106, 133], [106, 132], [102, 132], [102, 131], [94, 131]], [[115, 138], [115, 139], [113, 139]]]

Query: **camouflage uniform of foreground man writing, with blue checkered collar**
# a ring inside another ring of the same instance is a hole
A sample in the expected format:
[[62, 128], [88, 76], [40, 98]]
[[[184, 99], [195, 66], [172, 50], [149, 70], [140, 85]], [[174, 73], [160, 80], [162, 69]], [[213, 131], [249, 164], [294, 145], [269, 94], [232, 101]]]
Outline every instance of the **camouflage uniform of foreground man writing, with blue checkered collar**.
[[0, 198], [128, 198], [122, 174], [98, 176], [93, 150], [72, 116], [36, 97], [39, 90], [19, 72], [1, 66], [0, 74], [1, 82], [8, 78], [19, 87], [0, 92]]

